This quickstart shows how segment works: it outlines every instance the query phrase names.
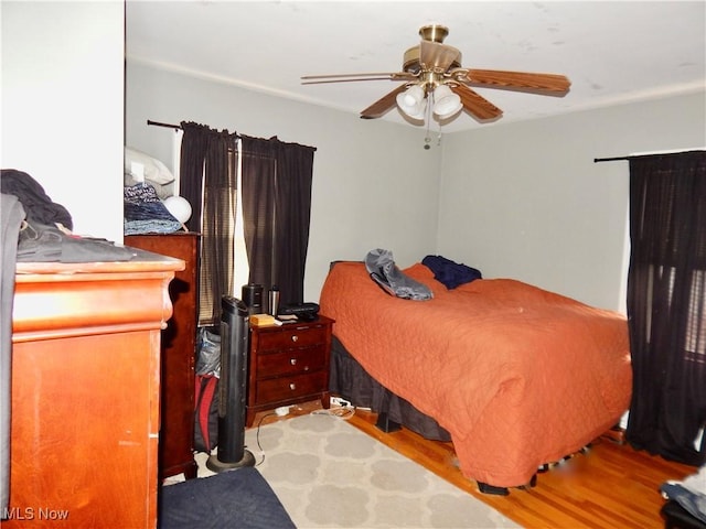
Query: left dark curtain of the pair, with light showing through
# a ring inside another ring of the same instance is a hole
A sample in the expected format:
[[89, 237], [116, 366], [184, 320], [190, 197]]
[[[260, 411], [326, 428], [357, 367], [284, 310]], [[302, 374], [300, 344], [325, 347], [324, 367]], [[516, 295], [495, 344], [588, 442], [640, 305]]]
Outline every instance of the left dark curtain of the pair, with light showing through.
[[221, 299], [233, 295], [237, 197], [237, 136], [182, 122], [180, 192], [192, 206], [186, 227], [201, 234], [199, 324], [221, 321]]

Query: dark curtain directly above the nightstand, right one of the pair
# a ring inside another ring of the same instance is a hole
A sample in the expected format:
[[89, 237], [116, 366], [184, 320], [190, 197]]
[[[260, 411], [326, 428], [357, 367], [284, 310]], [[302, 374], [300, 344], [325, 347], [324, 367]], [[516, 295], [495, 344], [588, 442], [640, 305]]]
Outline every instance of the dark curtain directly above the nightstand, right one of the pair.
[[243, 137], [243, 216], [249, 282], [301, 303], [314, 148]]

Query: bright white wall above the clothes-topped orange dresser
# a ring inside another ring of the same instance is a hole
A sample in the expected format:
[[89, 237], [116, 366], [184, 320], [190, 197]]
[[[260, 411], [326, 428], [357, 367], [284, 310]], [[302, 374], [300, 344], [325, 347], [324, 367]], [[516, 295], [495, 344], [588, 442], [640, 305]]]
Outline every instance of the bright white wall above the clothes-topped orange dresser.
[[29, 173], [74, 233], [122, 241], [121, 1], [0, 2], [0, 166]]

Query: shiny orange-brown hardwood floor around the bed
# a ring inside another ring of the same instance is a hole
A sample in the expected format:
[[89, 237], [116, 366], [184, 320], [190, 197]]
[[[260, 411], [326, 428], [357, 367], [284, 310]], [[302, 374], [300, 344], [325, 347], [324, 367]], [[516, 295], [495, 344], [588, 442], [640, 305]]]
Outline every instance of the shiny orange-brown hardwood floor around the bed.
[[[256, 415], [254, 424], [286, 420], [320, 408], [318, 401], [296, 406], [286, 418], [264, 412]], [[535, 487], [492, 496], [481, 494], [475, 482], [463, 477], [454, 465], [451, 443], [427, 441], [406, 429], [384, 433], [375, 428], [376, 420], [375, 413], [356, 410], [350, 423], [526, 528], [663, 528], [660, 485], [696, 472], [695, 467], [601, 438], [586, 453], [538, 474]]]

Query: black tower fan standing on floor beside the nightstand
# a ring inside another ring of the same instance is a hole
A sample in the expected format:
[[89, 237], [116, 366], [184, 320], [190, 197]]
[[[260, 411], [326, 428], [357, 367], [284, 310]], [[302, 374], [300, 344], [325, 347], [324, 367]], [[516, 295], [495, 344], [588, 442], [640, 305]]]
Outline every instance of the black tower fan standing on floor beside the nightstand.
[[245, 450], [248, 309], [228, 295], [223, 296], [222, 309], [218, 450], [206, 462], [212, 472], [255, 465], [255, 456]]

